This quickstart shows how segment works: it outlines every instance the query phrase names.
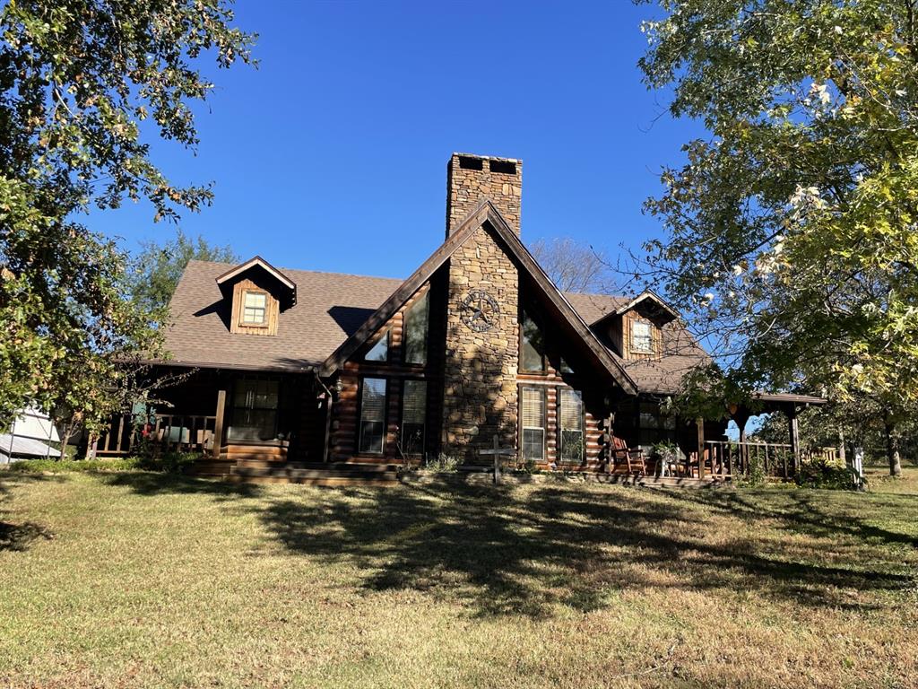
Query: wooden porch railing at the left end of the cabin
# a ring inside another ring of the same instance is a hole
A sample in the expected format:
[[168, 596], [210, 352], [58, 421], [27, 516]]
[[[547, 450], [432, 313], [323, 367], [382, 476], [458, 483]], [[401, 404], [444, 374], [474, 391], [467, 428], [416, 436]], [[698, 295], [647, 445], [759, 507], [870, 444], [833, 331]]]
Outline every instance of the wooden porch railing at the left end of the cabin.
[[127, 457], [141, 442], [161, 452], [201, 452], [213, 449], [217, 417], [199, 414], [119, 414], [95, 440], [96, 457]]

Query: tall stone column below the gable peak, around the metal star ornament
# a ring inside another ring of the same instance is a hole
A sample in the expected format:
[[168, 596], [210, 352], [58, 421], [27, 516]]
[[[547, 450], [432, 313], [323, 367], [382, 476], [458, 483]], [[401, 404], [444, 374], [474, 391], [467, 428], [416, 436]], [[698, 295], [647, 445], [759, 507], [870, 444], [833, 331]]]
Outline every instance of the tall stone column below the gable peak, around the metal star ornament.
[[[463, 321], [469, 290], [497, 300], [497, 322], [476, 333]], [[517, 445], [519, 274], [492, 234], [480, 228], [450, 258], [443, 369], [442, 452], [466, 463], [491, 461], [478, 450]]]

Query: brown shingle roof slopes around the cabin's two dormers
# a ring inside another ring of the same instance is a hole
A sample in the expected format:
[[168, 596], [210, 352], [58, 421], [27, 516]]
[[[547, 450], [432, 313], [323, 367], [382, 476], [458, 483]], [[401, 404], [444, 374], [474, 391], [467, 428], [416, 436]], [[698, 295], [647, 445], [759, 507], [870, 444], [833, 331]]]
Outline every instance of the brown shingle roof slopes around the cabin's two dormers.
[[[281, 314], [275, 336], [229, 333], [229, 308], [217, 277], [232, 264], [191, 261], [172, 299], [166, 347], [186, 366], [300, 370], [319, 366], [402, 285], [402, 280], [283, 269], [297, 283], [297, 304]], [[565, 293], [587, 323], [629, 301], [628, 297]], [[614, 352], [644, 392], [675, 391], [686, 370], [707, 355], [678, 322], [664, 327], [659, 360], [626, 361]]]

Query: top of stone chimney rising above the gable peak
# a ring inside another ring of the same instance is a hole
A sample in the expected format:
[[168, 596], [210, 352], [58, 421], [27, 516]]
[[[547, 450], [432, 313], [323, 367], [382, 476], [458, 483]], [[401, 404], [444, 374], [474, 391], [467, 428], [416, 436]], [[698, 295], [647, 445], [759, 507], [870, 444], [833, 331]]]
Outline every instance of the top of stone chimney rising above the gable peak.
[[490, 198], [519, 235], [521, 195], [521, 160], [453, 153], [446, 166], [446, 236], [482, 198]]

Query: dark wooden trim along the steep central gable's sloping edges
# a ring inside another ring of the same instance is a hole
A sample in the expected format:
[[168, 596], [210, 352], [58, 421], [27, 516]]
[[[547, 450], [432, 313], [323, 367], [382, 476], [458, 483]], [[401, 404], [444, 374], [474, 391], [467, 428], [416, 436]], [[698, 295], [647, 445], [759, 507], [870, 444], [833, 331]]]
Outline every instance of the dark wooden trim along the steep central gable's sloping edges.
[[565, 298], [558, 288], [554, 286], [541, 265], [532, 257], [529, 250], [520, 241], [506, 220], [500, 215], [494, 204], [489, 199], [483, 199], [468, 216], [463, 220], [452, 234], [443, 242], [440, 247], [431, 254], [420, 267], [399, 287], [389, 299], [379, 307], [379, 309], [370, 318], [364, 322], [356, 333], [353, 333], [344, 341], [338, 349], [332, 353], [319, 369], [319, 375], [329, 376], [335, 370], [342, 366], [348, 357], [352, 356], [366, 341], [373, 335], [386, 321], [400, 309], [409, 297], [414, 294], [421, 285], [431, 278], [433, 273], [443, 265], [451, 255], [462, 246], [466, 240], [479, 228], [486, 227], [489, 231], [494, 232], [504, 243], [510, 257], [515, 259], [521, 266], [521, 269], [532, 277], [537, 288], [543, 292], [543, 297], [548, 299], [554, 308], [561, 314], [562, 318], [573, 328], [575, 333], [580, 336], [592, 356], [594, 356], [599, 366], [605, 368], [610, 376], [621, 386], [622, 390], [630, 394], [636, 394], [638, 389], [633, 380], [625, 372], [620, 361], [617, 361], [611, 355], [609, 349], [599, 342], [596, 334], [593, 333], [586, 321], [571, 305], [570, 301]]

